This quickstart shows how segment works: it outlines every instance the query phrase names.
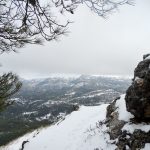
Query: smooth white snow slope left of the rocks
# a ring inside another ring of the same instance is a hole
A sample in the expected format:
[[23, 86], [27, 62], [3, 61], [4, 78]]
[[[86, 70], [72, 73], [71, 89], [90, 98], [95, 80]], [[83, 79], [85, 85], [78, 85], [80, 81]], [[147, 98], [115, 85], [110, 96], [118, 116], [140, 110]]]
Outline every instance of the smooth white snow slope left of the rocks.
[[24, 145], [24, 150], [114, 150], [116, 146], [111, 144], [106, 126], [98, 127], [98, 122], [105, 119], [106, 107], [106, 104], [82, 106], [64, 121], [40, 130], [39, 134], [36, 131], [27, 134], [2, 150], [19, 150], [25, 140], [29, 142]]

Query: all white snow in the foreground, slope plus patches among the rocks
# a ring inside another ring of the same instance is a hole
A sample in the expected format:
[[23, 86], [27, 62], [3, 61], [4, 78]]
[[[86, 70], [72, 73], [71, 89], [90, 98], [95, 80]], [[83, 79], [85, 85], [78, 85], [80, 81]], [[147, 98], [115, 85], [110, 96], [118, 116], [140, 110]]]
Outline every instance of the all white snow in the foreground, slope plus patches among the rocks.
[[[79, 111], [75, 111], [66, 118], [50, 127], [36, 130], [18, 140], [10, 143], [2, 150], [115, 150], [119, 137], [110, 140], [110, 126], [107, 126], [106, 108], [108, 105], [82, 106]], [[130, 122], [133, 115], [126, 111], [124, 95], [115, 102], [119, 121], [125, 124], [121, 128], [122, 132], [128, 135], [124, 139], [130, 139], [133, 131], [141, 130], [148, 132], [150, 125]], [[23, 144], [25, 141], [27, 143]], [[23, 148], [24, 147], [24, 148]], [[22, 148], [22, 149], [21, 149]], [[126, 145], [126, 150], [129, 146]], [[149, 150], [150, 144], [143, 145], [143, 150]], [[121, 150], [121, 148], [119, 149]]]

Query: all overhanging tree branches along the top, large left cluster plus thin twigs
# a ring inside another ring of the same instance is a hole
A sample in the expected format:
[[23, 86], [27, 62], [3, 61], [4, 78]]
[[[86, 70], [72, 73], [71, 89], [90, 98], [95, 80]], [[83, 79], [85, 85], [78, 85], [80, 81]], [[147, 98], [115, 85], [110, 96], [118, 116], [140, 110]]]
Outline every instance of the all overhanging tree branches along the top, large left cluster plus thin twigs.
[[133, 0], [0, 0], [0, 52], [15, 51], [25, 44], [42, 44], [66, 33], [70, 23], [61, 24], [52, 15], [52, 6], [61, 13], [74, 13], [80, 4], [106, 17], [118, 6], [133, 5]]

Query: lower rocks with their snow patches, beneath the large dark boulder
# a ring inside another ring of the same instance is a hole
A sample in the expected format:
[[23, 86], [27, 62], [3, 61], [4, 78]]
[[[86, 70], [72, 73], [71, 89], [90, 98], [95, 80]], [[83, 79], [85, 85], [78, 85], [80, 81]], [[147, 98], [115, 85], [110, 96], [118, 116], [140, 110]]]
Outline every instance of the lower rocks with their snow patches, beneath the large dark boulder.
[[126, 110], [125, 95], [107, 107], [106, 124], [117, 149], [150, 150], [150, 123], [137, 122]]

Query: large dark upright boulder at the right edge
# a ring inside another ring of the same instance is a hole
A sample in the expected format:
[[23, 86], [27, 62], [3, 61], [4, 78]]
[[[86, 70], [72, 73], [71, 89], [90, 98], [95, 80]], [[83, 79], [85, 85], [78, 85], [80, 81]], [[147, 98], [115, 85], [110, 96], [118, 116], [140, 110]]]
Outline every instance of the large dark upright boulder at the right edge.
[[134, 71], [132, 85], [126, 92], [126, 107], [141, 121], [150, 119], [150, 54], [143, 56]]

